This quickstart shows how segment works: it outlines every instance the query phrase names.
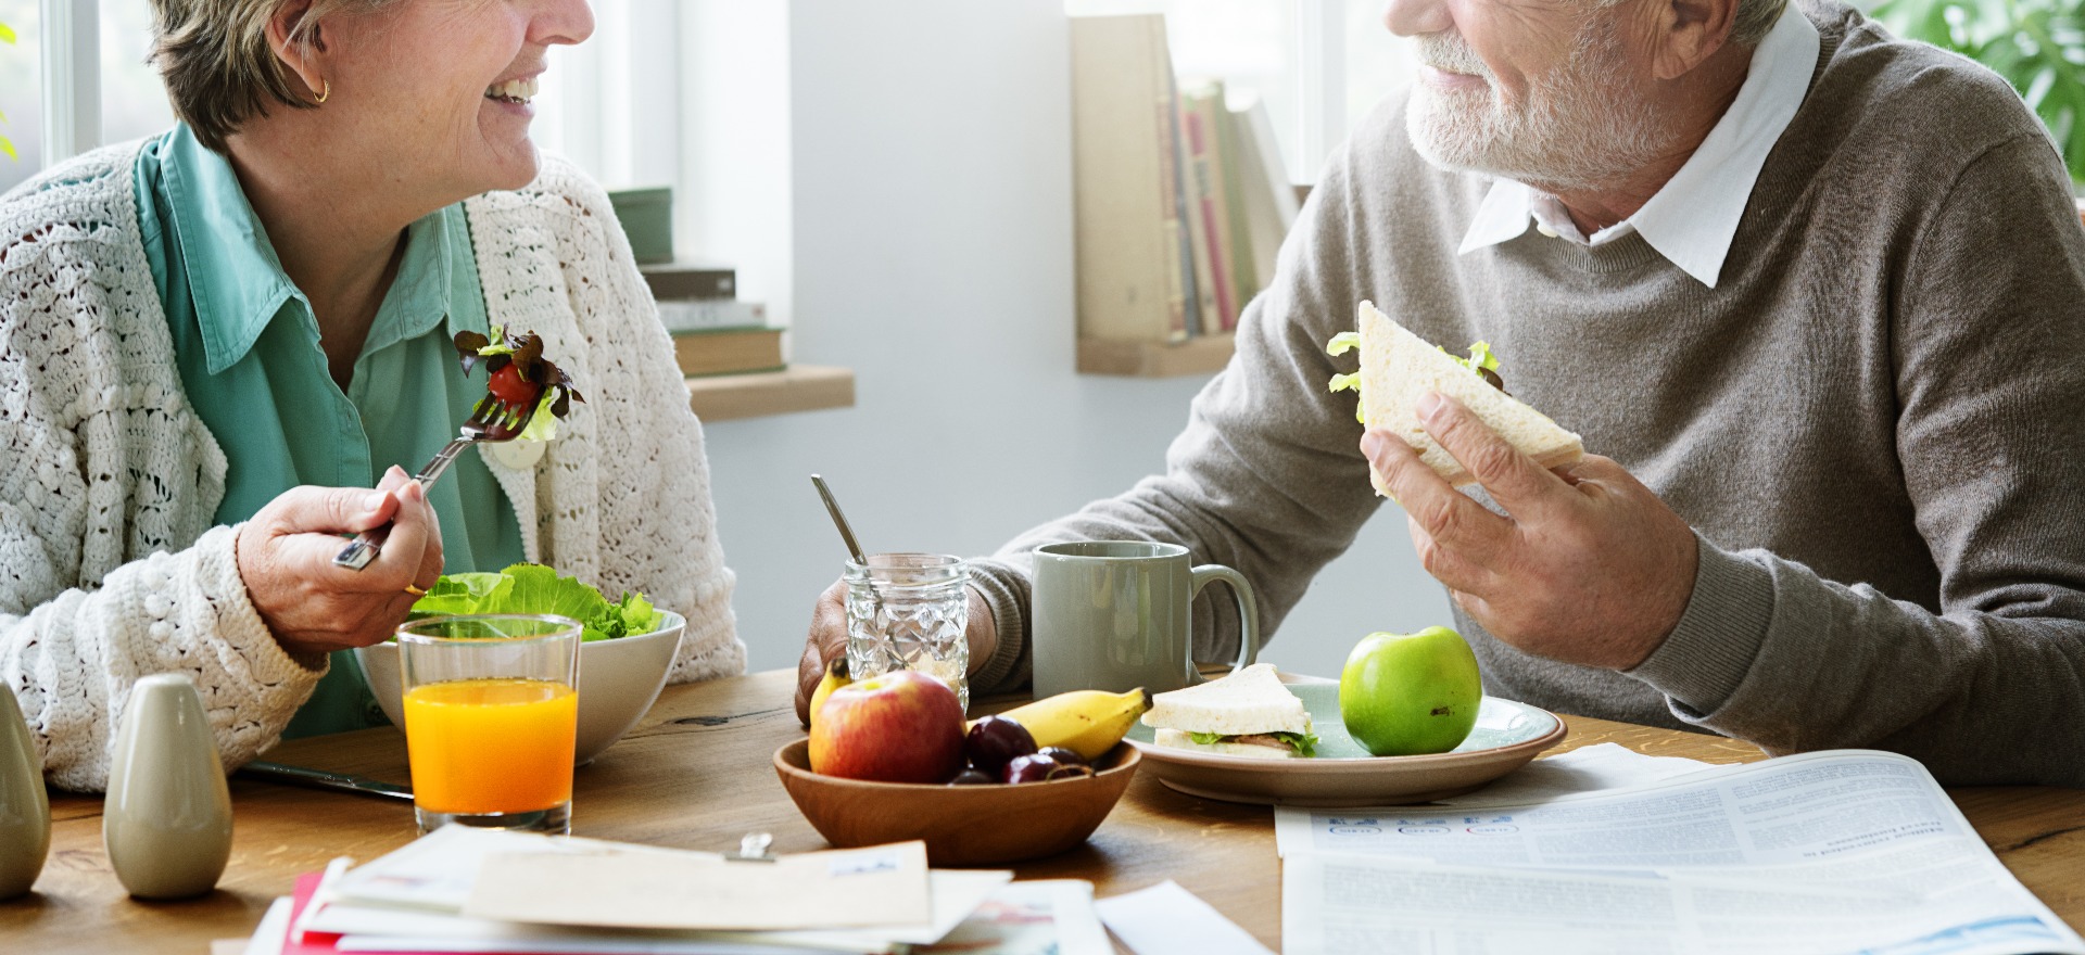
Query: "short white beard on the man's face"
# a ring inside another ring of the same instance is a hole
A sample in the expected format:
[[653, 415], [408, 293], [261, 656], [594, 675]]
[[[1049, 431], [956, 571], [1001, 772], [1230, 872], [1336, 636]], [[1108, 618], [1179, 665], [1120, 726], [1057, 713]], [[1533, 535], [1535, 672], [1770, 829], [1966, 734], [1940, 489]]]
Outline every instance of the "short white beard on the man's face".
[[1551, 192], [1593, 190], [1647, 167], [1672, 142], [1647, 102], [1616, 90], [1626, 60], [1605, 25], [1589, 27], [1570, 58], [1530, 79], [1526, 102], [1516, 104], [1501, 98], [1497, 77], [1460, 35], [1426, 33], [1418, 44], [1420, 63], [1487, 83], [1470, 92], [1414, 83], [1405, 129], [1420, 156], [1441, 169]]

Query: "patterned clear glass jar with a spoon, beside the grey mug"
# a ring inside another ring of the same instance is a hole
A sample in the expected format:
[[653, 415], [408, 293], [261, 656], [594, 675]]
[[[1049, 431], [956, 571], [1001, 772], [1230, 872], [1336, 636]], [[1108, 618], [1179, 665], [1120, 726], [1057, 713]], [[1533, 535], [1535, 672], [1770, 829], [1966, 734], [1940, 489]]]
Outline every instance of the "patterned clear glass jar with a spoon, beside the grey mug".
[[917, 669], [970, 709], [970, 567], [949, 555], [847, 561], [847, 669], [855, 680]]

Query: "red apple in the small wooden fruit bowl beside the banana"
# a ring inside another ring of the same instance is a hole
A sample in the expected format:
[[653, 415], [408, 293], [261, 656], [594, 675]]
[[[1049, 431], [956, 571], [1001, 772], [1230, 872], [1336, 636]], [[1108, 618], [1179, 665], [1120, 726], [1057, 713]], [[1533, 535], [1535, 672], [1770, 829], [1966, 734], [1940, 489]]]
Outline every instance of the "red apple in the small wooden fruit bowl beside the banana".
[[832, 690], [811, 719], [811, 772], [947, 782], [963, 767], [963, 705], [932, 676], [894, 669]]

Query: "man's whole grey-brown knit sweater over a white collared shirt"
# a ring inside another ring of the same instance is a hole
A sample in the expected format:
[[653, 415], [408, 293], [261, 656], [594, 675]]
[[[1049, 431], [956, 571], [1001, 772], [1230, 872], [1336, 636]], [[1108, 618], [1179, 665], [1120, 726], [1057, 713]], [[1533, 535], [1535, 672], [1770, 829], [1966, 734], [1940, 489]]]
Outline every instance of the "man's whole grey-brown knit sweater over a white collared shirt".
[[[1370, 298], [1618, 459], [1699, 534], [1693, 601], [1628, 674], [1528, 657], [1468, 617], [1487, 690], [1708, 728], [1768, 751], [1874, 746], [1943, 782], [2085, 784], [2085, 229], [1995, 75], [1806, 0], [1822, 48], [1718, 288], [1641, 236], [1537, 231], [1455, 254], [1489, 183], [1428, 167], [1391, 102], [1311, 192], [1238, 352], [1166, 473], [980, 561], [1028, 669], [1030, 548], [1159, 538], [1241, 569], [1268, 632], [1380, 507], [1324, 342]], [[1216, 594], [1226, 596], [1226, 594]], [[1228, 659], [1228, 598], [1195, 607]]]

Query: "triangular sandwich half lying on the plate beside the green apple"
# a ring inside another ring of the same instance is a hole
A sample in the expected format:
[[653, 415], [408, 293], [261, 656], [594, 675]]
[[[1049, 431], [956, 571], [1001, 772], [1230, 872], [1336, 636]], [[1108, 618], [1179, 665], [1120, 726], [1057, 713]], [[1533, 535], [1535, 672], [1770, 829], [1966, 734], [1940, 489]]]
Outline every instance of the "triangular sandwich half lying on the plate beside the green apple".
[[1303, 701], [1274, 676], [1274, 663], [1253, 663], [1222, 680], [1151, 696], [1145, 726], [1159, 746], [1232, 757], [1295, 759], [1318, 755]]

